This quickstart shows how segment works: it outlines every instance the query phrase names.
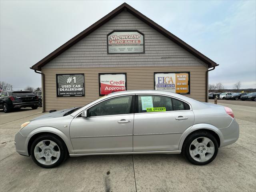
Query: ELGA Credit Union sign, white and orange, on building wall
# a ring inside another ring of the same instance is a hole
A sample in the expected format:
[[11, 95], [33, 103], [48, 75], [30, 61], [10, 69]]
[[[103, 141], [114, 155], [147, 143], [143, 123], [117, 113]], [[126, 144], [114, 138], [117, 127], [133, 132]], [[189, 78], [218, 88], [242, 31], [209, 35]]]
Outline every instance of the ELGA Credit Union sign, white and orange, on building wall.
[[190, 72], [154, 73], [155, 90], [190, 94]]

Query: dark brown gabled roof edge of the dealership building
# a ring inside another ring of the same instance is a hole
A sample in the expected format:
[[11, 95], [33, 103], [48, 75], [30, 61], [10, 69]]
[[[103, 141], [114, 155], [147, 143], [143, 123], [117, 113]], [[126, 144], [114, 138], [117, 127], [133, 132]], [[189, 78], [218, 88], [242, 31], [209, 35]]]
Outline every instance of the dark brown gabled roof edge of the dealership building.
[[94, 24], [92, 24], [86, 30], [80, 32], [78, 35], [74, 36], [72, 39], [70, 39], [68, 42], [66, 42], [59, 48], [57, 48], [48, 56], [46, 56], [45, 58], [43, 58], [42, 60], [34, 64], [31, 67], [31, 69], [41, 71], [42, 66], [50, 62], [52, 59], [54, 59], [56, 56], [58, 56], [59, 54], [61, 54], [62, 52], [70, 48], [72, 45], [76, 44], [78, 41], [82, 40], [84, 37], [86, 37], [88, 34], [90, 34], [94, 30], [96, 30], [97, 28], [99, 28], [100, 26], [108, 22], [110, 19], [114, 18], [123, 10], [127, 10], [128, 12], [130, 12], [131, 14], [133, 14], [134, 16], [136, 16], [137, 18], [139, 18], [140, 20], [142, 20], [143, 22], [145, 22], [146, 24], [148, 24], [149, 26], [151, 26], [152, 28], [154, 28], [155, 30], [157, 30], [158, 32], [160, 32], [161, 34], [163, 34], [164, 36], [172, 40], [173, 42], [175, 42], [176, 44], [178, 44], [179, 46], [181, 46], [182, 48], [184, 48], [185, 50], [187, 50], [188, 52], [190, 52], [191, 54], [193, 54], [194, 56], [196, 56], [206, 64], [208, 64], [208, 68], [218, 66], [216, 62], [212, 61], [211, 59], [209, 59], [208, 57], [206, 57], [205, 55], [203, 55], [202, 53], [194, 49], [192, 46], [186, 44], [186, 42], [182, 41], [180, 38], [170, 33], [168, 30], [162, 28], [160, 25], [158, 25], [148, 17], [144, 16], [142, 13], [132, 8], [127, 3], [123, 3], [122, 5], [114, 9], [112, 12], [110, 12], [109, 14], [107, 14], [106, 16], [104, 16]]

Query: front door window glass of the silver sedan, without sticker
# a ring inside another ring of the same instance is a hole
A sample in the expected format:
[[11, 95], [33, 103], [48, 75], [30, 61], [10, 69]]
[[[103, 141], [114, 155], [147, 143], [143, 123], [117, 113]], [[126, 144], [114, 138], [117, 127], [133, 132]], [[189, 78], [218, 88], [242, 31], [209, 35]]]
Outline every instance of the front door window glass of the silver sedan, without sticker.
[[103, 101], [88, 110], [88, 115], [104, 116], [104, 115], [120, 115], [130, 114], [132, 96], [121, 96]]

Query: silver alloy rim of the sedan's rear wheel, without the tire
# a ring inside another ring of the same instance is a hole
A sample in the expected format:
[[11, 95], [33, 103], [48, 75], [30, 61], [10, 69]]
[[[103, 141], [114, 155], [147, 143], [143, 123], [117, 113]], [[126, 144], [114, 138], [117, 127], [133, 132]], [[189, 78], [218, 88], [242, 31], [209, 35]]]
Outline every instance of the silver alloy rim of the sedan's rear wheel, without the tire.
[[207, 137], [199, 137], [190, 144], [190, 156], [197, 162], [206, 162], [214, 155], [214, 143]]

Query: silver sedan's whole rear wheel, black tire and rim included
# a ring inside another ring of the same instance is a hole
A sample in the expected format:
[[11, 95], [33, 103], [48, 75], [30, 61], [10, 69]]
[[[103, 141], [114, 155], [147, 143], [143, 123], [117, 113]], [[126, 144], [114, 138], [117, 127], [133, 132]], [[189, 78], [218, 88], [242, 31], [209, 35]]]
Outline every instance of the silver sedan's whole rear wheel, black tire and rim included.
[[185, 139], [182, 154], [192, 164], [206, 165], [212, 162], [218, 154], [218, 142], [209, 132], [193, 132]]

